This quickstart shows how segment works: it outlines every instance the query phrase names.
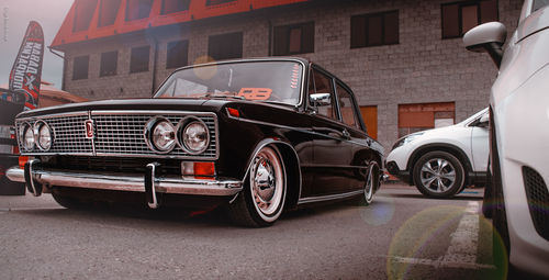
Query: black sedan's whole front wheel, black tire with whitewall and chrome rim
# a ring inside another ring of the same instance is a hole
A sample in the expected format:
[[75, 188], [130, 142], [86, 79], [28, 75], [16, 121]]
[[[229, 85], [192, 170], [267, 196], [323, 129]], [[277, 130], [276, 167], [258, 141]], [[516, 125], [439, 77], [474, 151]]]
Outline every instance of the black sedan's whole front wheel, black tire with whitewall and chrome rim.
[[272, 225], [284, 208], [287, 173], [283, 159], [274, 146], [265, 146], [251, 160], [244, 189], [227, 205], [233, 223], [247, 227]]

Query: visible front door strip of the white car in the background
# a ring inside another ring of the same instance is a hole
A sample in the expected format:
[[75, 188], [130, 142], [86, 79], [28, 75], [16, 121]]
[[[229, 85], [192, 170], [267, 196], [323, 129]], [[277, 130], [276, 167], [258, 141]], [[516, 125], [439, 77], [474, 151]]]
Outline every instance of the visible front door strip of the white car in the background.
[[481, 121], [488, 120], [488, 114], [489, 112], [486, 111], [471, 123], [471, 161], [473, 163], [473, 171], [475, 172], [484, 172], [488, 167], [488, 157], [490, 154], [489, 125], [488, 121]]

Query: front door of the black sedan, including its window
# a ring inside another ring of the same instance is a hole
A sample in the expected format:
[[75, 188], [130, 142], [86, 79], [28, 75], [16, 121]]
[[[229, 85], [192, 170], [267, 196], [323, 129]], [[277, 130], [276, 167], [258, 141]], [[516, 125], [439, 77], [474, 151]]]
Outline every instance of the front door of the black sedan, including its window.
[[311, 126], [313, 132], [311, 168], [315, 175], [311, 194], [314, 197], [341, 193], [348, 189], [351, 147], [348, 142], [349, 132], [339, 121], [334, 81], [328, 74], [312, 68], [313, 85], [310, 87], [310, 94], [329, 93], [329, 100], [323, 105], [310, 104], [316, 112]]

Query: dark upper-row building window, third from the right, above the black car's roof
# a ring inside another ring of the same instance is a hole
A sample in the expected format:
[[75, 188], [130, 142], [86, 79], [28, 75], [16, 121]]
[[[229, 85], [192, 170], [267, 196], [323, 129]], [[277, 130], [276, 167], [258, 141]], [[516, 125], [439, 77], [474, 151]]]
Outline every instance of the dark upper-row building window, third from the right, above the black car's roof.
[[314, 53], [314, 22], [274, 27], [273, 54]]

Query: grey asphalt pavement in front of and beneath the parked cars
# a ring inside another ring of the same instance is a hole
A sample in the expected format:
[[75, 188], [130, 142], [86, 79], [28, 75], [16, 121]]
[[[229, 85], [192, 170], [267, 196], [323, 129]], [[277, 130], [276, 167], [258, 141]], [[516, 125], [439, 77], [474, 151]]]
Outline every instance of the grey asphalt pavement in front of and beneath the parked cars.
[[451, 200], [382, 186], [242, 228], [220, 211], [76, 211], [0, 197], [2, 279], [502, 279], [483, 189]]

